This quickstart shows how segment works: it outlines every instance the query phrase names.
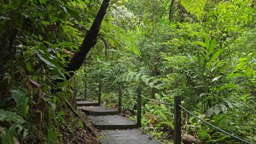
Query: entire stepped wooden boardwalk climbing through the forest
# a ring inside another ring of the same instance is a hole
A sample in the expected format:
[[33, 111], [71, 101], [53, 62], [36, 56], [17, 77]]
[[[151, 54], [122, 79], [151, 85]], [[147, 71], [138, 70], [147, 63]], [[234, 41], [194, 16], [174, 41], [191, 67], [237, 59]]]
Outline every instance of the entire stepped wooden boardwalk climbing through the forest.
[[77, 98], [78, 109], [81, 109], [89, 115], [91, 122], [101, 136], [102, 144], [159, 144], [152, 136], [143, 133], [137, 129], [137, 124], [118, 115], [116, 109], [108, 109], [100, 106], [98, 103], [85, 101], [83, 98]]

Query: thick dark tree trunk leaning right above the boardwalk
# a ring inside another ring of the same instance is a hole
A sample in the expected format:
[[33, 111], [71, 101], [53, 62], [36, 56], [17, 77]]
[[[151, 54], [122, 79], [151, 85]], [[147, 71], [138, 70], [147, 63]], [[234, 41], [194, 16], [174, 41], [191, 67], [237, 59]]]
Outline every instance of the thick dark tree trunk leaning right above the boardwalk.
[[[104, 15], [106, 14], [106, 10], [108, 8], [110, 0], [104, 0], [101, 4], [100, 10], [94, 19], [94, 22], [91, 25], [90, 31], [86, 34], [82, 46], [79, 47], [79, 51], [75, 52], [72, 57], [70, 63], [65, 67], [66, 71], [76, 71], [78, 70], [84, 62], [85, 56], [91, 50], [92, 47], [97, 43], [97, 36], [100, 32], [101, 22], [103, 20]], [[66, 79], [69, 80], [74, 73], [69, 73], [66, 75]]]

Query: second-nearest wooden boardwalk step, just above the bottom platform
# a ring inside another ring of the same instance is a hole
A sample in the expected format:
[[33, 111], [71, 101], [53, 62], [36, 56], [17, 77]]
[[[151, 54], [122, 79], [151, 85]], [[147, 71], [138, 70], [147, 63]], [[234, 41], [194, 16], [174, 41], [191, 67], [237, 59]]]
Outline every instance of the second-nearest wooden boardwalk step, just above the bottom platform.
[[98, 129], [133, 129], [136, 123], [129, 121], [119, 115], [113, 116], [90, 116], [92, 123]]

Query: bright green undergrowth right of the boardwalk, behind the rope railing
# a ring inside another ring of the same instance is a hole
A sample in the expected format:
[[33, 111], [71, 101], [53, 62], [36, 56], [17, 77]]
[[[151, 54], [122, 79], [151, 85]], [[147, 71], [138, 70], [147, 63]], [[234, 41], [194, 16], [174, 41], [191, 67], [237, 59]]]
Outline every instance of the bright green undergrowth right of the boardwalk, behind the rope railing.
[[[195, 115], [255, 143], [254, 2], [209, 1], [200, 14], [191, 15], [189, 8], [174, 1], [171, 21], [166, 16], [170, 2], [123, 4], [113, 23], [132, 35], [140, 56], [110, 45], [103, 59], [90, 53], [94, 58], [78, 73], [86, 80], [89, 99], [97, 100], [98, 86], [102, 85], [102, 103], [117, 107], [121, 85], [124, 116], [136, 121], [139, 86], [144, 97], [166, 103], [173, 103], [174, 95], [180, 95], [182, 105]], [[84, 89], [84, 81], [79, 87]], [[172, 143], [173, 109], [142, 98], [142, 129]], [[241, 143], [182, 113], [183, 134], [201, 143]]]

